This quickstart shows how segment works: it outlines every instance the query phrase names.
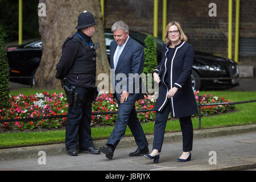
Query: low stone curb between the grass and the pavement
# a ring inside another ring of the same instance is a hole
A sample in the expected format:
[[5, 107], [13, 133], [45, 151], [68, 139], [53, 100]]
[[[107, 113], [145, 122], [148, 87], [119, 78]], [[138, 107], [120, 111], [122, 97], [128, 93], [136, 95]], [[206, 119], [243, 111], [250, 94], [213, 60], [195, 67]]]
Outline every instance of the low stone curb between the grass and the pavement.
[[[193, 138], [221, 137], [234, 134], [242, 134], [256, 131], [256, 125], [230, 126], [216, 129], [201, 129], [193, 131]], [[153, 143], [154, 135], [146, 135], [149, 144]], [[93, 140], [94, 147], [104, 146], [108, 139]], [[182, 133], [165, 133], [164, 142], [182, 140]], [[118, 144], [118, 147], [135, 146], [133, 137], [124, 137]], [[38, 156], [39, 151], [46, 152], [46, 155], [67, 154], [65, 143], [47, 144], [42, 146], [17, 147], [0, 149], [0, 160], [11, 160], [20, 158], [32, 158]], [[255, 166], [255, 164], [253, 164]], [[224, 168], [223, 168], [224, 169]], [[227, 168], [229, 169], [229, 168]]]

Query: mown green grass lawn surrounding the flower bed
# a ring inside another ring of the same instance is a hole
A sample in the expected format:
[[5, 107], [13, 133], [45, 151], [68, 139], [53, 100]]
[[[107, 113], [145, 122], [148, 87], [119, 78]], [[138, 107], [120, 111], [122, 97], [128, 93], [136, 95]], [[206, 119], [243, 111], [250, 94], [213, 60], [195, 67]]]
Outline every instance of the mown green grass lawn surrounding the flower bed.
[[[43, 90], [49, 93], [63, 92], [62, 90]], [[39, 90], [34, 90], [34, 92], [29, 90], [24, 90], [24, 92], [15, 91], [11, 94], [18, 95], [19, 93], [34, 94], [39, 93]], [[201, 91], [200, 94], [203, 95], [205, 92]], [[212, 94], [213, 96], [222, 96], [225, 100], [246, 101], [255, 100], [256, 92], [219, 92], [219, 91], [207, 91], [207, 94]], [[238, 111], [233, 113], [226, 113], [220, 115], [213, 115], [209, 117], [201, 118], [201, 129], [208, 129], [213, 127], [226, 127], [226, 126], [237, 126], [237, 125], [250, 125], [256, 123], [256, 102], [247, 104], [236, 105]], [[199, 128], [198, 117], [192, 118], [193, 128]], [[142, 123], [142, 127], [145, 134], [154, 133], [154, 122]], [[113, 126], [109, 127], [92, 127], [92, 138], [102, 139], [108, 138], [112, 133]], [[180, 131], [179, 120], [168, 121], [166, 125], [167, 132]], [[131, 131], [127, 127], [126, 135], [131, 136]], [[49, 144], [49, 143], [63, 143], [65, 140], [65, 131], [47, 131], [47, 132], [29, 132], [25, 133], [20, 131], [19, 133], [4, 133], [0, 134], [0, 148], [5, 147], [15, 147], [15, 146], [28, 146], [35, 144]]]

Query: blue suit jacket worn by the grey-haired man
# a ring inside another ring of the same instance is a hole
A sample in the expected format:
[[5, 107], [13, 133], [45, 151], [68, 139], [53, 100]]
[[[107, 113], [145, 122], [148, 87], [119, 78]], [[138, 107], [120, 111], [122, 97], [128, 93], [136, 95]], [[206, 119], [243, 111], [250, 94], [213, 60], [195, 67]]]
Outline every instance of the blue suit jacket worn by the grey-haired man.
[[[119, 56], [117, 68], [114, 70], [114, 53], [118, 44], [113, 40], [110, 43], [110, 66], [112, 69], [112, 86], [115, 86], [115, 97], [120, 101], [122, 90], [129, 92], [127, 103], [133, 104], [144, 98], [142, 93], [142, 81], [138, 79], [144, 66], [144, 49], [136, 40], [129, 37], [121, 55]], [[130, 75], [129, 75], [130, 73]], [[137, 74], [138, 75], [137, 75]], [[120, 76], [122, 78], [118, 78]], [[125, 79], [125, 80], [123, 80]], [[137, 81], [137, 82], [135, 82]], [[119, 83], [119, 84], [118, 84]], [[120, 88], [120, 89], [118, 89]], [[124, 102], [124, 103], [125, 103]]]

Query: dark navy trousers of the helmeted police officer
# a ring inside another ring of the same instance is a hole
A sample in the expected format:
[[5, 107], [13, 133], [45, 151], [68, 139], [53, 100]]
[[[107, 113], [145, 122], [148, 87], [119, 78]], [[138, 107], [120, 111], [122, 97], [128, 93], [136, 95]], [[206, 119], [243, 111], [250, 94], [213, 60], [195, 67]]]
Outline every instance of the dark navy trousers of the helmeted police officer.
[[76, 148], [79, 143], [79, 148], [93, 147], [90, 122], [92, 120], [92, 97], [91, 88], [82, 88], [77, 86], [75, 92], [86, 97], [84, 106], [76, 109], [69, 105], [68, 117], [65, 133], [66, 148]]

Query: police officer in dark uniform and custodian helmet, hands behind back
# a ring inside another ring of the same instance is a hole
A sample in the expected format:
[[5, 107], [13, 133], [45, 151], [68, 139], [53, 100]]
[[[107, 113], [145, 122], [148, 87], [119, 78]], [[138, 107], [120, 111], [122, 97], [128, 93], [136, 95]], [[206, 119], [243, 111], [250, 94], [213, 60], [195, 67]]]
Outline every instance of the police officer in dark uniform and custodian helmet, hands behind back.
[[56, 65], [56, 78], [61, 80], [69, 103], [65, 145], [72, 156], [77, 156], [77, 143], [80, 152], [100, 154], [93, 146], [90, 129], [92, 101], [97, 96], [96, 44], [91, 39], [96, 23], [88, 11], [81, 13], [77, 22], [78, 30], [65, 40]]

